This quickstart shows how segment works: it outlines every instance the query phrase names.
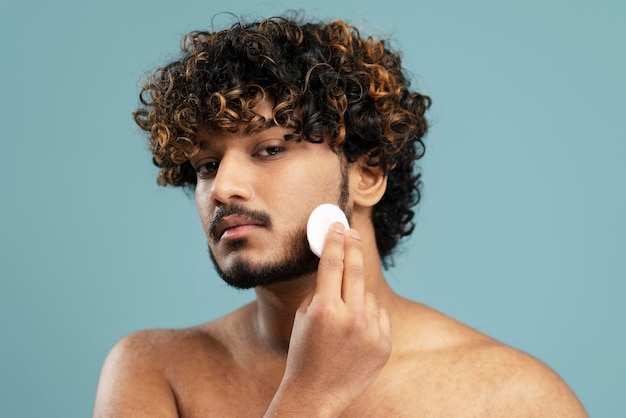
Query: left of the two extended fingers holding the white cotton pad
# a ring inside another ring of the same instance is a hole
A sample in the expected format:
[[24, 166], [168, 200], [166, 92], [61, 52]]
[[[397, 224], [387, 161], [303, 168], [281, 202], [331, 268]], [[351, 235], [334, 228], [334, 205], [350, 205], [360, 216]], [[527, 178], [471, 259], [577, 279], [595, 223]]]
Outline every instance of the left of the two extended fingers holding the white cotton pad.
[[333, 223], [328, 229], [317, 267], [316, 294], [341, 299], [344, 230], [345, 227], [339, 222]]

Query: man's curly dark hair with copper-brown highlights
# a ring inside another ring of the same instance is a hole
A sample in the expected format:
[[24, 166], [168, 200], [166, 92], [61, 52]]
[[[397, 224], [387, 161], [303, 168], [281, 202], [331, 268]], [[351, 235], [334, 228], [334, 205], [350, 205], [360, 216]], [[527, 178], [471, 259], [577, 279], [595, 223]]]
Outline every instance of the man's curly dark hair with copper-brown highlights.
[[[341, 20], [297, 16], [194, 31], [181, 52], [151, 74], [133, 113], [149, 133], [158, 183], [195, 188], [189, 159], [198, 151], [199, 127], [247, 133], [268, 122], [288, 127], [288, 140], [327, 142], [347, 161], [365, 157], [387, 175], [372, 222], [383, 265], [392, 265], [394, 248], [415, 227], [421, 188], [415, 161], [424, 155], [431, 104], [409, 89], [400, 53]], [[273, 121], [253, 110], [265, 99], [274, 104]]]

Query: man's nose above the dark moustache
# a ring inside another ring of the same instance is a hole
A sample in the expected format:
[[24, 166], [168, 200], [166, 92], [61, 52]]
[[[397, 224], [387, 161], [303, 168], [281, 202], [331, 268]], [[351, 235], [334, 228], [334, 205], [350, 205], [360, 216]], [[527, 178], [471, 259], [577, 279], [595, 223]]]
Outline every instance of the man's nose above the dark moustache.
[[243, 154], [233, 152], [224, 155], [213, 179], [212, 203], [222, 206], [251, 200], [254, 196], [252, 178], [252, 169]]

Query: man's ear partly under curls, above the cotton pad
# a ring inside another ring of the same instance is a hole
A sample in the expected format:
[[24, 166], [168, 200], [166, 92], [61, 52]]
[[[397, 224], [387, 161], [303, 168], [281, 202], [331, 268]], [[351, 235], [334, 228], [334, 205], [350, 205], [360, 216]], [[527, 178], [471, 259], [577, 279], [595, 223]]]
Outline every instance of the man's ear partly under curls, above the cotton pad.
[[350, 166], [350, 196], [355, 205], [372, 207], [387, 190], [387, 175], [380, 167], [367, 164], [368, 158], [359, 158]]

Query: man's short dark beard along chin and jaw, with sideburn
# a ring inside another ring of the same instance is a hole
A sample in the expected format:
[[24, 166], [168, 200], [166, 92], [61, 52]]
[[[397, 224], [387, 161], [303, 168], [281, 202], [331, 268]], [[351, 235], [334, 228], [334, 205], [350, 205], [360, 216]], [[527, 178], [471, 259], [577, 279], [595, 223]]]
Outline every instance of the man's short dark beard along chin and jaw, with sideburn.
[[[343, 158], [340, 158], [340, 161], [341, 184], [339, 186], [339, 201], [337, 205], [346, 213], [348, 222], [350, 222], [352, 211], [347, 207], [349, 198], [349, 165]], [[230, 212], [235, 213], [239, 212], [239, 210], [233, 208]], [[240, 212], [253, 215], [243, 208]], [[254, 216], [251, 217], [263, 217], [263, 219], [271, 224], [270, 217], [267, 214], [254, 214]], [[231, 244], [231, 250], [237, 251], [245, 245], [246, 239], [235, 241]], [[222, 280], [229, 286], [237, 289], [252, 289], [257, 286], [267, 286], [274, 283], [295, 280], [317, 271], [319, 258], [309, 247], [305, 226], [289, 234], [287, 240], [283, 242], [281, 250], [284, 255], [280, 259], [265, 263], [253, 263], [240, 259], [227, 269], [220, 267], [210, 247], [209, 256], [213, 261], [215, 270]]]

